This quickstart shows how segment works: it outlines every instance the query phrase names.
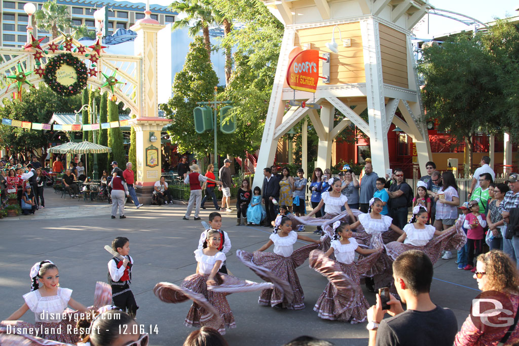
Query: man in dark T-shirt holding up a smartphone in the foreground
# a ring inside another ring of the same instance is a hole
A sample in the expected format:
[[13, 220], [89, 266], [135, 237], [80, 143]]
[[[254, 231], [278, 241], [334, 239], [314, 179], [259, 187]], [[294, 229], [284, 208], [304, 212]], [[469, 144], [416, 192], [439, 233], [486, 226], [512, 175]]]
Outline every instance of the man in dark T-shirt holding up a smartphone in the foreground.
[[[431, 301], [429, 292], [433, 275], [432, 262], [424, 252], [410, 250], [393, 262], [393, 278], [402, 303], [389, 295], [389, 309], [383, 310], [380, 295], [367, 311], [369, 346], [421, 345], [451, 346], [458, 331], [454, 312]], [[384, 314], [391, 316], [383, 320]], [[439, 333], [441, 331], [441, 333]]]

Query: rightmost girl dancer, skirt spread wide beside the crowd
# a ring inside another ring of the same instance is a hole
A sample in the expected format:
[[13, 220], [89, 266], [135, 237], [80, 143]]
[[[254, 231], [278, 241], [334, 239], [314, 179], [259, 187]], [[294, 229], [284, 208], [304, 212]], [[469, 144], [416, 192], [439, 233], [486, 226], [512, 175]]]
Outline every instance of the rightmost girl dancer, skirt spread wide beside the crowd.
[[[461, 229], [461, 221], [455, 227], [439, 231], [432, 225], [427, 225], [429, 214], [427, 209], [417, 205], [413, 208], [411, 221], [404, 226], [404, 233], [396, 242], [386, 244], [386, 252], [395, 260], [407, 250], [420, 250], [436, 263], [445, 247], [461, 248], [466, 242], [465, 232]], [[438, 236], [433, 239], [434, 236]]]

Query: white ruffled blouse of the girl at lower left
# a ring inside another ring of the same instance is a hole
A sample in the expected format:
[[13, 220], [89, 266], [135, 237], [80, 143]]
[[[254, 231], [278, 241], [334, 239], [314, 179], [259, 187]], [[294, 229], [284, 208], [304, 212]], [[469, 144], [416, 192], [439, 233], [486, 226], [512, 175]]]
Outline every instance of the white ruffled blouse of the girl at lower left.
[[36, 322], [61, 322], [61, 316], [69, 305], [72, 289], [58, 287], [56, 296], [42, 297], [39, 290], [23, 295], [25, 303], [34, 312]]

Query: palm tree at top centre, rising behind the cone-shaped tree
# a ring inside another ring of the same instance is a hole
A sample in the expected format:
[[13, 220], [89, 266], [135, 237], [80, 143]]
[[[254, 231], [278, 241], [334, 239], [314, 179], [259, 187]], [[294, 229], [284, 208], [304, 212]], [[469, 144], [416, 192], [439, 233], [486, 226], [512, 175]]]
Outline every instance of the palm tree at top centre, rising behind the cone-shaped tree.
[[213, 8], [207, 0], [185, 0], [184, 2], [174, 1], [169, 5], [173, 12], [185, 13], [186, 17], [175, 21], [172, 29], [187, 27], [189, 36], [195, 37], [201, 30], [203, 43], [211, 56], [211, 41], [209, 39], [209, 25], [215, 22]]

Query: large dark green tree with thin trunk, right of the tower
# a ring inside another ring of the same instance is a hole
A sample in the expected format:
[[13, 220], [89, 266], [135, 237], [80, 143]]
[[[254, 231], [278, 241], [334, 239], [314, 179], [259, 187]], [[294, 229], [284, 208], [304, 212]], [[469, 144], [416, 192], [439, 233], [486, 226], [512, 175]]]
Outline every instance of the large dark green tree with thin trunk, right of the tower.
[[500, 114], [495, 107], [503, 87], [499, 67], [483, 48], [481, 34], [450, 37], [441, 46], [426, 48], [422, 53], [418, 71], [426, 81], [422, 89], [426, 117], [438, 119], [439, 130], [465, 139], [468, 172], [472, 167], [473, 134], [499, 125]]

